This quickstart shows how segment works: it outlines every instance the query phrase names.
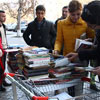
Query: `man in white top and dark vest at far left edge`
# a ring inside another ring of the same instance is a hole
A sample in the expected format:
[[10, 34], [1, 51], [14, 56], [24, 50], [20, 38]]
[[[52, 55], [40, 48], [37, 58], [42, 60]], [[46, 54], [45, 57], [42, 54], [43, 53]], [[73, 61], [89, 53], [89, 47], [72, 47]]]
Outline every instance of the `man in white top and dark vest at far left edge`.
[[[7, 48], [7, 40], [6, 40], [6, 27], [3, 24], [6, 21], [6, 14], [5, 11], [0, 10], [0, 37], [2, 38], [2, 48], [6, 49]], [[0, 66], [0, 72], [4, 73], [5, 70], [5, 63], [6, 63], [6, 53], [4, 53], [2, 57], [4, 69]], [[0, 76], [1, 77], [1, 76]], [[5, 91], [6, 89], [3, 86], [10, 86], [11, 84], [7, 83], [5, 79], [2, 80], [1, 85], [0, 85], [0, 91]]]

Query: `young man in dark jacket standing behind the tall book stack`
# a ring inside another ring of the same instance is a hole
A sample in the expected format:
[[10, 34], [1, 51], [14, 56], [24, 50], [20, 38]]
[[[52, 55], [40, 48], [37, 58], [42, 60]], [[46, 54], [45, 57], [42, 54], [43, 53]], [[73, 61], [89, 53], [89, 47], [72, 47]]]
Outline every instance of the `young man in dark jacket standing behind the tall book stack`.
[[45, 7], [39, 5], [36, 7], [36, 18], [29, 23], [23, 34], [25, 42], [30, 46], [54, 48], [56, 32], [53, 23], [47, 21], [45, 16]]

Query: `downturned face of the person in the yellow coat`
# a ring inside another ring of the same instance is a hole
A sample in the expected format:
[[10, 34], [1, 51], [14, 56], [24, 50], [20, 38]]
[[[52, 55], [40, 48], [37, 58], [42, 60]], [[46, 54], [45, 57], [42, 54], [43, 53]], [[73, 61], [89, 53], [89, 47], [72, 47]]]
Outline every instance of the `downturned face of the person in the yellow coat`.
[[80, 10], [77, 10], [75, 12], [69, 12], [69, 16], [70, 16], [72, 23], [76, 23], [81, 17], [81, 14], [82, 14], [82, 11]]

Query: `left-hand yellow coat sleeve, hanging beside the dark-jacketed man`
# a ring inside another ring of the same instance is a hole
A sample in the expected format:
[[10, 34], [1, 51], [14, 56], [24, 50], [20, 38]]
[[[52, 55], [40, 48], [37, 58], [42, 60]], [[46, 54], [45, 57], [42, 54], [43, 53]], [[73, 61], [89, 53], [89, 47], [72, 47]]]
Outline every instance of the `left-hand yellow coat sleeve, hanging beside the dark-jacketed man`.
[[61, 25], [61, 20], [60, 20], [57, 23], [57, 37], [55, 41], [54, 50], [57, 50], [60, 52], [62, 48], [62, 44], [63, 44], [63, 32], [62, 32], [62, 25]]

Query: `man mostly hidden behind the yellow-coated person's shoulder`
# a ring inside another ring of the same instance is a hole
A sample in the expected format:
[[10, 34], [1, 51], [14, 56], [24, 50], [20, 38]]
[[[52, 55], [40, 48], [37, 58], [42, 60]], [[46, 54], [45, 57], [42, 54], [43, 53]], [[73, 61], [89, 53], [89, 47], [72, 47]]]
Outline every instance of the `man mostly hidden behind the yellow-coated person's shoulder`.
[[55, 29], [57, 31], [57, 23], [59, 20], [63, 20], [68, 16], [68, 6], [62, 8], [62, 16], [55, 21]]

